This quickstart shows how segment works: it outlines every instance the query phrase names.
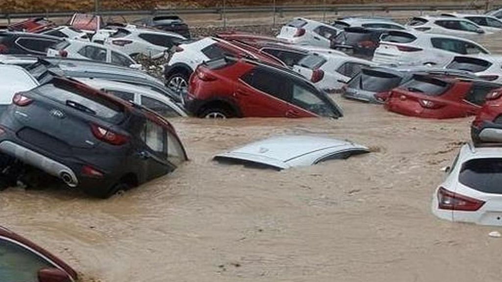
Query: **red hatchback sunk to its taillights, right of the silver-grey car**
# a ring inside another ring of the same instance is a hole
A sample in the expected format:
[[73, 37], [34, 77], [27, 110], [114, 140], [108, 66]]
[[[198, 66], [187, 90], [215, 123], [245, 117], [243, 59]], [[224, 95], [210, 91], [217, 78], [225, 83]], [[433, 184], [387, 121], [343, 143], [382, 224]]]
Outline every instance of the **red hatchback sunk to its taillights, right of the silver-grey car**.
[[465, 117], [476, 114], [486, 95], [500, 86], [486, 81], [417, 74], [392, 90], [385, 108], [425, 118]]

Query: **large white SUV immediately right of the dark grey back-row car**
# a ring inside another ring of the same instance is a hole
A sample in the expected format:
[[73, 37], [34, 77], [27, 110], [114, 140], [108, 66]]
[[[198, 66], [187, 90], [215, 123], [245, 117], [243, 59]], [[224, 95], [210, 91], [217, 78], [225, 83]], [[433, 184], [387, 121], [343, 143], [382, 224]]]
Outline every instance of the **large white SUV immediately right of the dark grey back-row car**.
[[372, 61], [388, 65], [446, 66], [458, 55], [489, 54], [467, 39], [429, 33], [390, 31], [382, 36]]

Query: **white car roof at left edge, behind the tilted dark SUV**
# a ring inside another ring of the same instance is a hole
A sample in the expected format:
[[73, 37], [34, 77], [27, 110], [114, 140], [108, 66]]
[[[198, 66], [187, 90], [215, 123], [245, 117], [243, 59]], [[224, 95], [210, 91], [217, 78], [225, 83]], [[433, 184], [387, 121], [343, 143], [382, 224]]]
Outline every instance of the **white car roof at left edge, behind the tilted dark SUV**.
[[14, 94], [39, 85], [24, 68], [15, 65], [0, 65], [0, 104], [10, 104]]

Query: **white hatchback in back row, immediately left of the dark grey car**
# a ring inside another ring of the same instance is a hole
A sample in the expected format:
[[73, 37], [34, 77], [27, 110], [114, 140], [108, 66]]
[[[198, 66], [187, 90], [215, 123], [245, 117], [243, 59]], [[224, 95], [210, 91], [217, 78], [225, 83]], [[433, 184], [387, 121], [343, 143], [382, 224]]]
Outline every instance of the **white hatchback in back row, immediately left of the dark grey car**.
[[297, 18], [283, 26], [277, 38], [294, 44], [329, 48], [331, 39], [340, 31], [328, 24]]

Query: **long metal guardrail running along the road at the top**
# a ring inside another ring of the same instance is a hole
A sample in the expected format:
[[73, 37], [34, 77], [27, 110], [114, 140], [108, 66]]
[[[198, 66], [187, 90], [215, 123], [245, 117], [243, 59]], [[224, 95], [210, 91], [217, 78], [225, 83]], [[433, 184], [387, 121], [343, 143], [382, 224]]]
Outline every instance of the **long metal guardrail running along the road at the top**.
[[[466, 5], [468, 4], [468, 5]], [[492, 5], [492, 8], [502, 5]], [[256, 14], [256, 13], [291, 13], [291, 12], [391, 12], [391, 11], [458, 11], [466, 9], [486, 9], [485, 5], [473, 6], [469, 3], [451, 3], [451, 4], [360, 4], [360, 5], [302, 5], [302, 6], [254, 6], [254, 7], [214, 7], [203, 9], [156, 9], [144, 11], [98, 11], [101, 16], [147, 16], [147, 15], [165, 15], [165, 14]], [[0, 19], [26, 19], [35, 17], [63, 18], [71, 17], [75, 11], [68, 12], [47, 12], [47, 13], [0, 13]]]

